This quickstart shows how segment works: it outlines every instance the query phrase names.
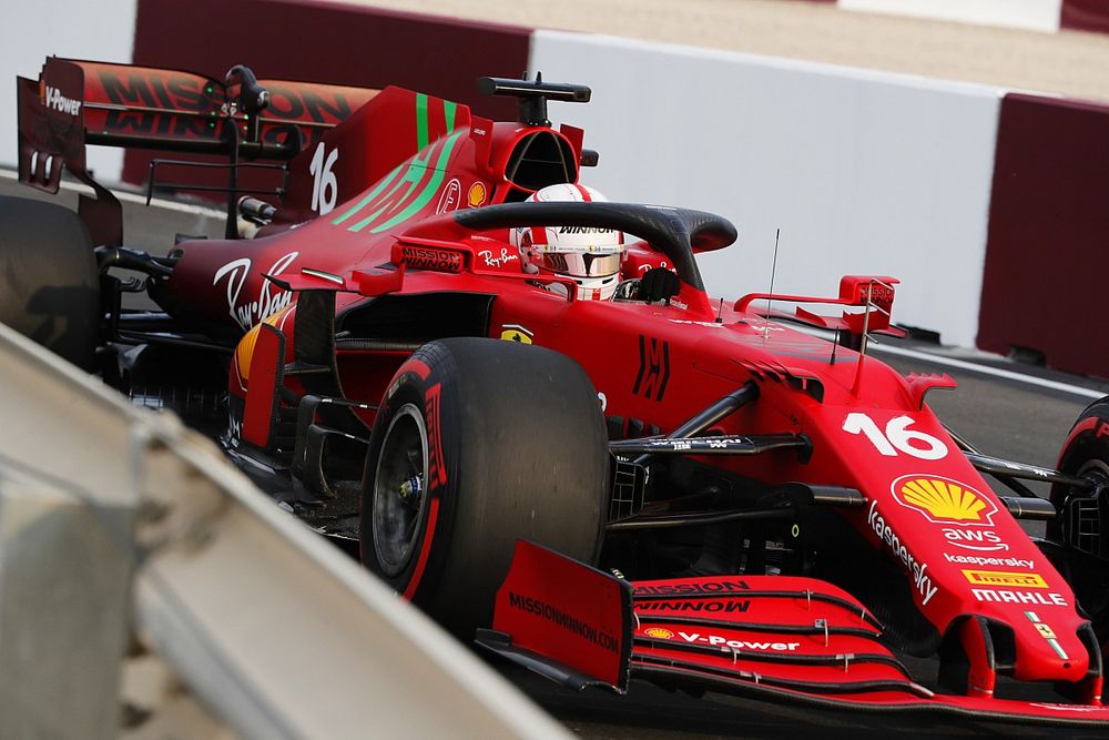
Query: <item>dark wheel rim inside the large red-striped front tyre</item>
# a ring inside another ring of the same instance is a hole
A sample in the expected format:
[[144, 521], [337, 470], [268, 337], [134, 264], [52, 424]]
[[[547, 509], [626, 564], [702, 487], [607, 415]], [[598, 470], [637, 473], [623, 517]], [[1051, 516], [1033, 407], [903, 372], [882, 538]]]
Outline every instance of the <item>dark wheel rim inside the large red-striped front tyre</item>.
[[427, 496], [427, 426], [413, 404], [405, 404], [389, 423], [374, 474], [374, 551], [384, 574], [404, 572], [416, 551]]

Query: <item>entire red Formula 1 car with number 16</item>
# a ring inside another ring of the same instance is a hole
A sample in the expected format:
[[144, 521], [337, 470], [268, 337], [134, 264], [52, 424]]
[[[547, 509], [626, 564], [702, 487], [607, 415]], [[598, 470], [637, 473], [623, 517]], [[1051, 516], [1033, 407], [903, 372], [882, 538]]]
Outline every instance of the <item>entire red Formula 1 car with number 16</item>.
[[[520, 120], [245, 68], [51, 59], [19, 82], [20, 179], [57, 190], [64, 166], [98, 197], [81, 220], [0, 201], [0, 318], [173, 407], [447, 628], [568, 685], [1109, 720], [1109, 404], [1058, 470], [981, 455], [924, 403], [949, 378], [866, 356], [896, 331], [895, 280], [776, 296], [837, 306], [791, 317], [835, 342], [770, 321], [769, 296], [711, 298], [695, 254], [734, 241], [726, 220], [525, 202], [596, 163], [546, 120], [588, 89], [479, 84], [519, 98]], [[224, 155], [152, 172], [228, 173], [226, 239], [128, 249], [87, 143]], [[240, 197], [258, 171], [279, 201]], [[521, 268], [512, 231], [546, 226], [642, 240], [615, 300]], [[676, 280], [660, 296], [639, 275], [661, 267]], [[159, 310], [121, 307], [134, 292]], [[910, 676], [905, 655], [935, 670]]]

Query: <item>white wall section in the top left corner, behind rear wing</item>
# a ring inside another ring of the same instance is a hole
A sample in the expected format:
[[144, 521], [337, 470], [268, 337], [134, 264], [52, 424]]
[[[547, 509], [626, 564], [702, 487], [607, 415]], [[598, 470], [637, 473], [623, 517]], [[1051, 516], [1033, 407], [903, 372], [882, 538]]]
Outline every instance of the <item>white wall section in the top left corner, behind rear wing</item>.
[[[16, 77], [38, 79], [48, 55], [130, 62], [136, 0], [38, 0], [8, 8], [0, 23], [0, 165], [17, 156]], [[123, 151], [89, 148], [89, 169], [116, 182]]]

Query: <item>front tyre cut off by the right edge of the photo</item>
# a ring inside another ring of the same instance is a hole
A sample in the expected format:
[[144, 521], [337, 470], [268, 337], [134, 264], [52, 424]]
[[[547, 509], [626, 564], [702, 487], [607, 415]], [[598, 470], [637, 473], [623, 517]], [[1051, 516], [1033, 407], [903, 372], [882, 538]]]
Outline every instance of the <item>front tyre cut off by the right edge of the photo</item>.
[[[1078, 490], [1070, 486], [1051, 486], [1051, 503], [1059, 516], [1048, 523], [1047, 537], [1060, 543], [1064, 549], [1097, 553], [1103, 548], [1100, 537], [1109, 537], [1109, 520], [1105, 518], [1107, 503], [1089, 501], [1089, 507], [1077, 521], [1071, 509], [1076, 498], [1103, 498], [1109, 496], [1109, 396], [1086, 407], [1071, 427], [1067, 442], [1059, 454], [1058, 469], [1093, 480], [1093, 491]], [[1098, 513], [1101, 513], [1099, 516]], [[1090, 520], [1089, 517], [1095, 517]], [[1080, 533], [1099, 533], [1095, 537]], [[1105, 551], [1105, 550], [1101, 550]], [[1062, 570], [1075, 589], [1079, 605], [1093, 621], [1095, 630], [1101, 639], [1109, 637], [1109, 567], [1105, 560], [1079, 553], [1078, 558], [1069, 558]]]

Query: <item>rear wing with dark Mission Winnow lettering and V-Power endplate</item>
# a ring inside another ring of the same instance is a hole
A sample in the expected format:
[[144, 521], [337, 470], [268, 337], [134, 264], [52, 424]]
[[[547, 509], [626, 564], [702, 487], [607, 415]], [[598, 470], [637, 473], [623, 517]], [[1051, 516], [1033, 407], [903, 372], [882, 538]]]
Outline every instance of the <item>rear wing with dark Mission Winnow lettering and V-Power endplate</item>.
[[91, 185], [102, 204], [82, 200], [81, 213], [98, 243], [119, 243], [121, 234], [105, 234], [102, 229], [112, 229], [96, 223], [111, 220], [105, 209], [114, 197], [89, 176], [87, 144], [225, 155], [232, 165], [241, 156], [287, 161], [378, 92], [256, 80], [244, 67], [221, 82], [57, 57], [47, 59], [38, 80], [19, 78], [17, 90], [19, 181], [57, 193], [64, 168]]

